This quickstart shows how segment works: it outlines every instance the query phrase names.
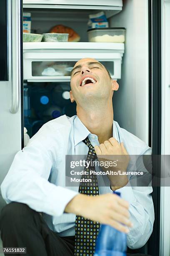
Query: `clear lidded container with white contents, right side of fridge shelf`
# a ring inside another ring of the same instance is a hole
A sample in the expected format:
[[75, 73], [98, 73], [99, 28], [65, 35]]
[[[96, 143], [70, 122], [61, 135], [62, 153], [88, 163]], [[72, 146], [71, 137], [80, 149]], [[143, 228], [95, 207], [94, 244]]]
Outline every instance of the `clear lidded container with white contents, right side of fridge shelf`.
[[124, 43], [125, 28], [91, 28], [87, 30], [89, 42]]

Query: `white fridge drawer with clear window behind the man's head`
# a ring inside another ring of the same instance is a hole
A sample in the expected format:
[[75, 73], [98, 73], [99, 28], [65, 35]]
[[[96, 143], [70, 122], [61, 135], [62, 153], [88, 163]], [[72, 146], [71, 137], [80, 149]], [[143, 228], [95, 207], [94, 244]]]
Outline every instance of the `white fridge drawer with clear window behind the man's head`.
[[121, 78], [121, 53], [26, 52], [23, 54], [24, 79], [32, 82], [69, 82], [75, 62], [87, 57], [100, 61], [110, 72], [112, 79]]

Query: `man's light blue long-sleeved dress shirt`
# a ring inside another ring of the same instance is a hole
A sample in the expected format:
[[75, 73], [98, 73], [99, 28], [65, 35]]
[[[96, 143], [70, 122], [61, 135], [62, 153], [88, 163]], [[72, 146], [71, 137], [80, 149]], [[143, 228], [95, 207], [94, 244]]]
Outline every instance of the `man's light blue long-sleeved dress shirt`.
[[[88, 147], [82, 142], [89, 137], [93, 146], [99, 145], [95, 134], [75, 115], [51, 120], [40, 128], [28, 145], [20, 150], [1, 184], [2, 197], [7, 203], [22, 202], [43, 212], [51, 230], [60, 236], [75, 235], [75, 215], [65, 213], [67, 203], [78, 194], [79, 187], [65, 187], [65, 155], [85, 155]], [[128, 154], [151, 154], [151, 149], [139, 138], [113, 122], [113, 137], [123, 142]], [[100, 177], [97, 177], [100, 179]], [[100, 186], [99, 193], [112, 193], [109, 187]], [[130, 203], [133, 228], [127, 236], [129, 248], [143, 246], [150, 237], [154, 223], [152, 187], [126, 185], [117, 191]], [[101, 205], [102, 207], [102, 205]]]

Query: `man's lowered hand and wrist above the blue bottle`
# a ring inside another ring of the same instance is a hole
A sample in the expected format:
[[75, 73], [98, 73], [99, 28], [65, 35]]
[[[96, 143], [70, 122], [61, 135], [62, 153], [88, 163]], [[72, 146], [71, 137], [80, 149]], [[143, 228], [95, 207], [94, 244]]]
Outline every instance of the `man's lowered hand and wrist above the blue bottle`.
[[126, 226], [132, 227], [128, 208], [129, 203], [115, 194], [93, 197], [78, 194], [67, 204], [65, 212], [74, 213], [128, 233]]

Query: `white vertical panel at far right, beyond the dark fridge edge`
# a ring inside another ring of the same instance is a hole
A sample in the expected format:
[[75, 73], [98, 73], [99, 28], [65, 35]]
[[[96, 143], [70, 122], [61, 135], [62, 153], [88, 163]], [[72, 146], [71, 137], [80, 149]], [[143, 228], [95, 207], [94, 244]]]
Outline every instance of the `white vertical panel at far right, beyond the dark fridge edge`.
[[[162, 155], [170, 155], [170, 0], [162, 1]], [[165, 166], [169, 171], [169, 166]], [[165, 171], [165, 170], [164, 170]], [[160, 188], [160, 256], [170, 255], [170, 187]]]

